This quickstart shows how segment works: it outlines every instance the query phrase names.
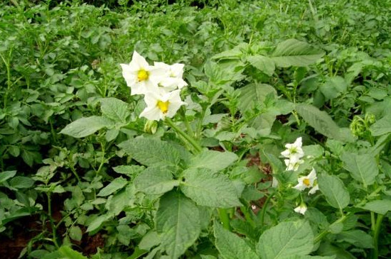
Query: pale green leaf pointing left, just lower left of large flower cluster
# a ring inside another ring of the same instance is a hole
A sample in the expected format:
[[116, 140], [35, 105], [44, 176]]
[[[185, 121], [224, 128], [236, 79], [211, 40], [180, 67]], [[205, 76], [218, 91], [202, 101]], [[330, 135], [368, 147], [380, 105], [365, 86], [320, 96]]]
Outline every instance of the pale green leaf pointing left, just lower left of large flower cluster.
[[89, 136], [101, 128], [113, 126], [113, 121], [100, 116], [91, 116], [88, 118], [80, 118], [68, 124], [60, 131], [61, 134], [73, 136], [73, 138], [83, 138]]

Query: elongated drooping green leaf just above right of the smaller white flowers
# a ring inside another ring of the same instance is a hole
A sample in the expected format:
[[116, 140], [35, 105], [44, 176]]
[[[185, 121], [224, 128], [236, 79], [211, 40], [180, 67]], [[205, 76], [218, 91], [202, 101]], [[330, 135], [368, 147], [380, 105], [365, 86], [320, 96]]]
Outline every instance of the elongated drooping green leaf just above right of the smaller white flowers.
[[341, 139], [340, 128], [325, 111], [309, 104], [297, 104], [296, 111], [318, 133], [328, 138]]

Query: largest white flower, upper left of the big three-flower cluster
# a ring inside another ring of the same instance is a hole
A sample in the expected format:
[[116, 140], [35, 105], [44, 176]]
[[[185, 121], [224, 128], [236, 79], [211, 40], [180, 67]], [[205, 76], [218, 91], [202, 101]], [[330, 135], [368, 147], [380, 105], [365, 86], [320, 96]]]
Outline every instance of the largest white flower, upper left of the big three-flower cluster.
[[121, 67], [122, 76], [127, 82], [127, 86], [132, 89], [132, 95], [156, 91], [159, 82], [166, 75], [164, 69], [150, 66], [145, 58], [136, 51], [134, 51], [129, 65], [121, 64]]

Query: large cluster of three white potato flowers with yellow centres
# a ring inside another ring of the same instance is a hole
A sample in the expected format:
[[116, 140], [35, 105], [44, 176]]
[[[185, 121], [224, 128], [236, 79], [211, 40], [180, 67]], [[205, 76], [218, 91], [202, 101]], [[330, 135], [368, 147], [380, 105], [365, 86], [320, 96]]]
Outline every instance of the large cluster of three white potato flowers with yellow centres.
[[121, 67], [127, 86], [132, 89], [131, 95], [144, 94], [146, 108], [140, 117], [151, 121], [172, 118], [186, 104], [179, 95], [181, 88], [187, 85], [182, 79], [183, 64], [154, 62], [152, 66], [134, 51], [129, 65], [121, 64]]

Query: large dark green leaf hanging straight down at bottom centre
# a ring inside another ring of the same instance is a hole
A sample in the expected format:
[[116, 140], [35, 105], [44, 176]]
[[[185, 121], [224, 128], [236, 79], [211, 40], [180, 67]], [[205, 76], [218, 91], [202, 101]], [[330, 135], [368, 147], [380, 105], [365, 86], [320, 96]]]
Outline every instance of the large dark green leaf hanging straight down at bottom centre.
[[164, 194], [156, 211], [156, 231], [168, 258], [176, 259], [183, 255], [200, 235], [197, 205], [179, 192]]

